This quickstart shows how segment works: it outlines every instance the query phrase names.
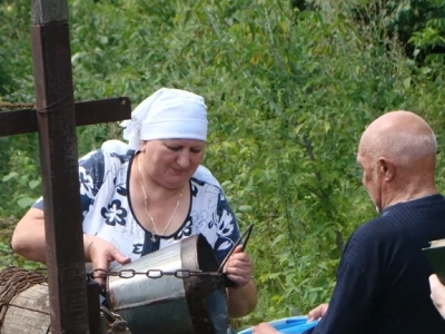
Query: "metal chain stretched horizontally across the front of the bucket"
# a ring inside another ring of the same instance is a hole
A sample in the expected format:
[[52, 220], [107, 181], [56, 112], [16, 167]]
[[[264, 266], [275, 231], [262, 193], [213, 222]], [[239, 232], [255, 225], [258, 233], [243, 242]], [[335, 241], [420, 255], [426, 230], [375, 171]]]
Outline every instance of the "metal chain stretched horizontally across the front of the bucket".
[[178, 269], [175, 272], [165, 272], [161, 269], [148, 269], [147, 272], [136, 272], [135, 269], [121, 269], [121, 271], [106, 271], [106, 269], [93, 269], [88, 274], [91, 279], [106, 278], [109, 276], [118, 276], [120, 278], [132, 278], [136, 275], [145, 275], [148, 278], [161, 278], [162, 276], [175, 276], [176, 278], [188, 278], [191, 276], [222, 276], [218, 272], [202, 272], [202, 271], [189, 271]]

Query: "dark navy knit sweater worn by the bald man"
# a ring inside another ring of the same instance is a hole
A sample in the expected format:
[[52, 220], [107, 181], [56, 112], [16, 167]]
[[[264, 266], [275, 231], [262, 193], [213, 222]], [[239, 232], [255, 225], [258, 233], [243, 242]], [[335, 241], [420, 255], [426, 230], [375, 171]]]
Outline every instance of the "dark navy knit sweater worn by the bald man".
[[441, 238], [442, 195], [393, 205], [358, 227], [343, 253], [328, 312], [305, 334], [444, 334], [445, 320], [429, 297], [433, 269], [422, 254]]

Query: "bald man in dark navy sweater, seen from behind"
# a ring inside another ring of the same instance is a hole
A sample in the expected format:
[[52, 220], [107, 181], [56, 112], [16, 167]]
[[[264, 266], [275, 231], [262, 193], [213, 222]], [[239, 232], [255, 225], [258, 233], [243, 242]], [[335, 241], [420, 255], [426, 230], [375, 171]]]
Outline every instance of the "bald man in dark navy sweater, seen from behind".
[[[429, 297], [431, 266], [422, 254], [445, 238], [445, 199], [435, 186], [436, 138], [409, 111], [392, 111], [362, 136], [357, 163], [380, 216], [358, 227], [342, 255], [330, 304], [305, 334], [445, 333]], [[267, 324], [255, 334], [278, 333]]]

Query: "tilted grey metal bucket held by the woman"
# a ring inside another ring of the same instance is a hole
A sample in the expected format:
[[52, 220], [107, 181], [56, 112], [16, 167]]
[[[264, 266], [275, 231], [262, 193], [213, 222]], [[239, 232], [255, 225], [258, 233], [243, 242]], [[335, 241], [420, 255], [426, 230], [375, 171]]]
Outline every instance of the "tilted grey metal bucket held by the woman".
[[[217, 269], [218, 261], [207, 239], [191, 236], [116, 268], [121, 275], [107, 277], [108, 303], [127, 321], [132, 334], [226, 334], [222, 277], [192, 274]], [[148, 275], [134, 275], [132, 271]], [[191, 275], [184, 277], [188, 272]], [[151, 278], [155, 276], [158, 278]]]

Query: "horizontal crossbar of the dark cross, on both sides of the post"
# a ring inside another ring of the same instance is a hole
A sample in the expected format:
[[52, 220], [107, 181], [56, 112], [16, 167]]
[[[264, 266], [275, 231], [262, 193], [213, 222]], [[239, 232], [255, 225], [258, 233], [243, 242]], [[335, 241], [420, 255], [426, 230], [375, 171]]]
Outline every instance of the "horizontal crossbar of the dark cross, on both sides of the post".
[[[131, 118], [130, 99], [127, 97], [76, 102], [76, 126], [109, 122]], [[37, 111], [22, 109], [0, 111], [0, 137], [36, 132]]]

